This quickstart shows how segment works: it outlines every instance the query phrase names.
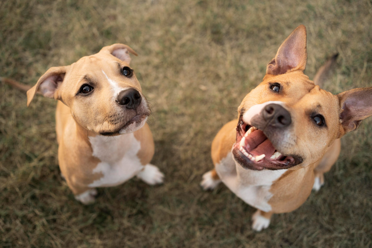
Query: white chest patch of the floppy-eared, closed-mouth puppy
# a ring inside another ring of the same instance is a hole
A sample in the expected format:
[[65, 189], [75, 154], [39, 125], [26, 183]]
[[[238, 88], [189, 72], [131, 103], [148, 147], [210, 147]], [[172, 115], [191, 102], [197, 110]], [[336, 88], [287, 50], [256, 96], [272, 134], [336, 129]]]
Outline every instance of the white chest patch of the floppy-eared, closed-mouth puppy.
[[137, 175], [143, 168], [137, 153], [141, 144], [133, 133], [119, 136], [95, 136], [89, 138], [93, 156], [101, 160], [93, 173], [103, 177], [89, 184], [89, 187], [108, 187], [124, 183]]

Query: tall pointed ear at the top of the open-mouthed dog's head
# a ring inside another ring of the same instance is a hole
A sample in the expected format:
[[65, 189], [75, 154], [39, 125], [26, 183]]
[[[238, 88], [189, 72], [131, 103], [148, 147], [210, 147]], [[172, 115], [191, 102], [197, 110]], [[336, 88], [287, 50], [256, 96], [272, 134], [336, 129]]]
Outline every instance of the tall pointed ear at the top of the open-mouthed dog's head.
[[300, 25], [280, 45], [275, 58], [267, 64], [266, 74], [279, 75], [289, 70], [304, 71], [306, 61], [306, 28]]

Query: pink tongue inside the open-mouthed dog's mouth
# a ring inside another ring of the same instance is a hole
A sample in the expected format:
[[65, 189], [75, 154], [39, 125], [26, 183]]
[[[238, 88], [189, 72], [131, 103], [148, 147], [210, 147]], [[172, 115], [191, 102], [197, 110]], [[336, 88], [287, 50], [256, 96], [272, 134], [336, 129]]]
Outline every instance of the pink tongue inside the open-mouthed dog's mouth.
[[270, 158], [275, 152], [273, 144], [267, 139], [266, 135], [261, 130], [256, 130], [246, 137], [247, 150], [252, 155], [265, 154], [266, 158]]

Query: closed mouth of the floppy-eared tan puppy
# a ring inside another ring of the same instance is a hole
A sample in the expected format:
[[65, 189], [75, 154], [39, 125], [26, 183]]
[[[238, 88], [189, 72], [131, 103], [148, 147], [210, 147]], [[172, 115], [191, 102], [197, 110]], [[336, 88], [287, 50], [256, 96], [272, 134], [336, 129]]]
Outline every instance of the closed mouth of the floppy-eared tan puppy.
[[[130, 132], [137, 131], [144, 125], [147, 117], [148, 115], [146, 114], [139, 114], [139, 115], [135, 115], [128, 121], [124, 122], [124, 124], [122, 124], [123, 120], [116, 121], [113, 124], [115, 126], [113, 130], [110, 130], [110, 131], [102, 130], [99, 132], [99, 134], [105, 135], [105, 136], [115, 136], [115, 135], [121, 135], [123, 133], [130, 133]], [[119, 125], [119, 124], [122, 124], [122, 125]]]

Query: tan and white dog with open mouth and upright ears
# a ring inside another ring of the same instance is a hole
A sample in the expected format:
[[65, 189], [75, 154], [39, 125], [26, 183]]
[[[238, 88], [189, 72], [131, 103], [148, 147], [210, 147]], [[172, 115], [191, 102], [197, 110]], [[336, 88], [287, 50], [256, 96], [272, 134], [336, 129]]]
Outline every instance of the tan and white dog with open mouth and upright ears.
[[291, 212], [324, 183], [340, 153], [340, 138], [372, 115], [372, 87], [338, 95], [304, 74], [306, 28], [301, 25], [279, 47], [262, 83], [244, 97], [238, 119], [212, 142], [215, 168], [201, 186], [223, 182], [257, 208], [252, 228], [267, 228], [273, 213]]

